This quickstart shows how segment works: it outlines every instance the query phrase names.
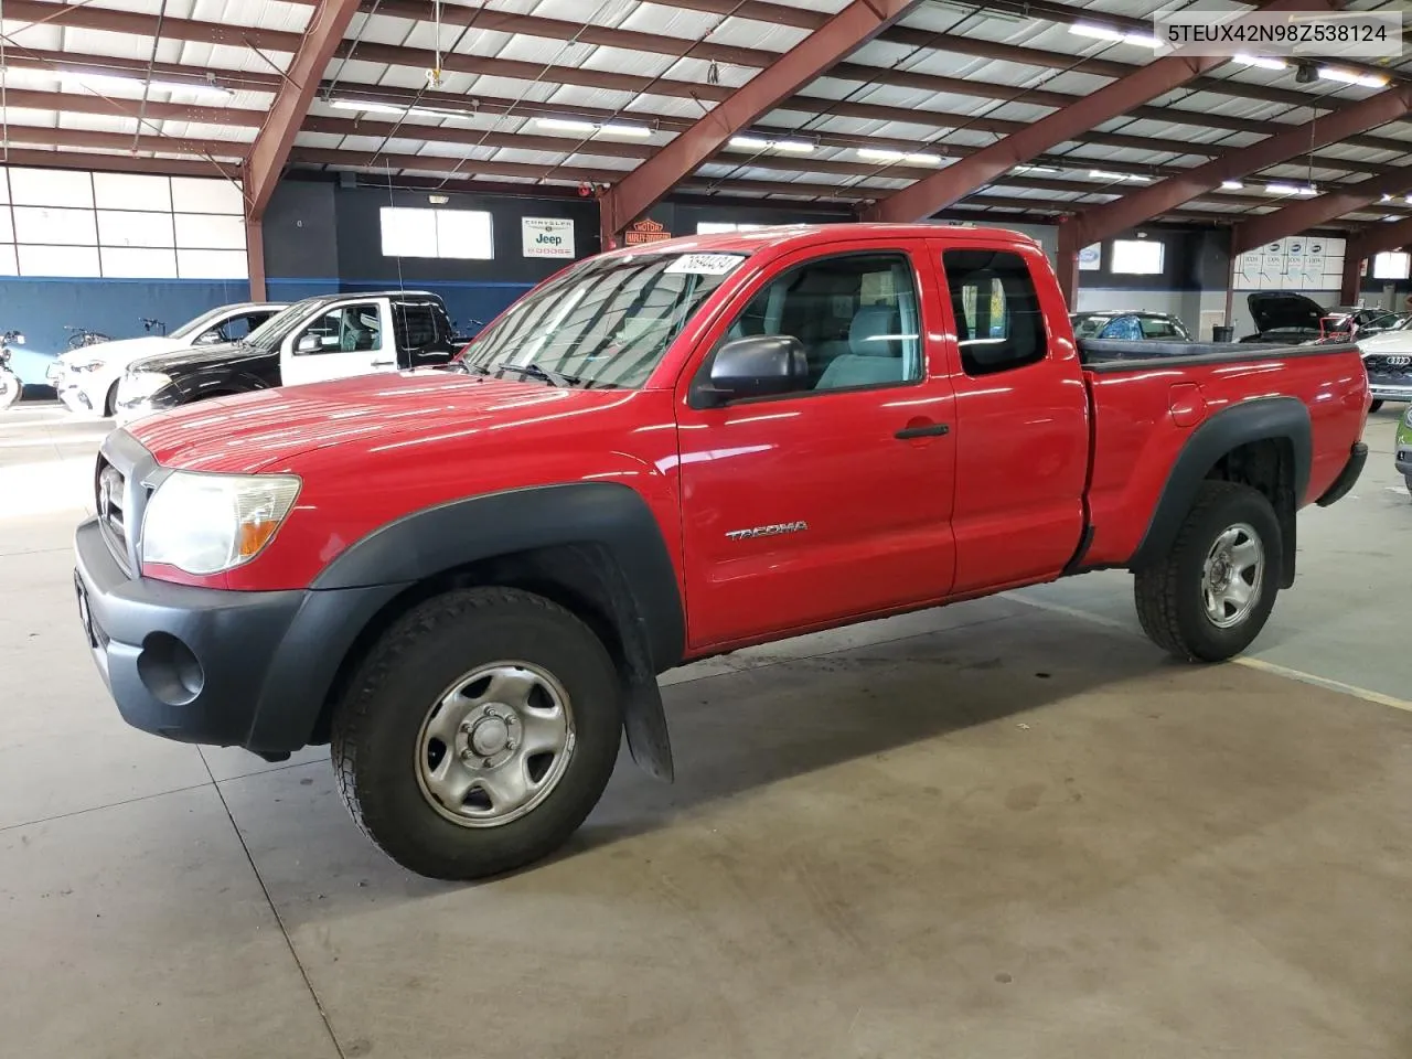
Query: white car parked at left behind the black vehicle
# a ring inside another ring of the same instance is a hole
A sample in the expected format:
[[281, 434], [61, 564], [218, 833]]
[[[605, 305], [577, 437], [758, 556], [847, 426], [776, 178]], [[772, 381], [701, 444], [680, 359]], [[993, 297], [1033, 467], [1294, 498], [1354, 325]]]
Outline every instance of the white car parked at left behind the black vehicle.
[[169, 353], [191, 346], [237, 342], [285, 308], [277, 302], [241, 302], [203, 312], [171, 335], [144, 335], [83, 346], [59, 354], [49, 366], [49, 384], [58, 390], [65, 407], [80, 415], [113, 415], [117, 381], [127, 366], [154, 353]]

